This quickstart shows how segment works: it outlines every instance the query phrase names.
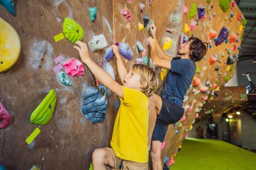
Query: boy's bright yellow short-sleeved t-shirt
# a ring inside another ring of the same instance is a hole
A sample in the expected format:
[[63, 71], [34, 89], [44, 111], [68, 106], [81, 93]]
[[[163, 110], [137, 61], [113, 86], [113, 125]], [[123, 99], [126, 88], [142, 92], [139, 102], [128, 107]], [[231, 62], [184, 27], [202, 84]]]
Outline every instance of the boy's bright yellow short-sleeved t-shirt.
[[148, 162], [149, 99], [137, 89], [122, 86], [123, 99], [115, 120], [111, 147], [116, 156], [133, 162]]

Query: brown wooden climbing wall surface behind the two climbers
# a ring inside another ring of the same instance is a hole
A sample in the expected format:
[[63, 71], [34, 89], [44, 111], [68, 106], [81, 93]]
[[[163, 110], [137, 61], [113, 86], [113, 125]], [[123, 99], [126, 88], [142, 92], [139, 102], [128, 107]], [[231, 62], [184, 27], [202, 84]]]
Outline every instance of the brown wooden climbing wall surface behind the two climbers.
[[[165, 51], [170, 56], [176, 55], [178, 44], [183, 40], [181, 33], [188, 37], [193, 34], [209, 42], [211, 29], [218, 35], [221, 28], [225, 26], [230, 33], [236, 34], [241, 25], [241, 22], [236, 20], [236, 15], [240, 13], [236, 4], [234, 7], [230, 5], [231, 8], [223, 13], [217, 0], [211, 0], [209, 3], [206, 0], [153, 0], [151, 2], [152, 0], [36, 0], [29, 2], [23, 0], [15, 1], [16, 17], [0, 6], [0, 17], [14, 27], [21, 41], [21, 52], [17, 63], [7, 72], [0, 74], [0, 100], [12, 117], [7, 128], [0, 129], [2, 146], [0, 164], [11, 170], [30, 169], [34, 165], [45, 170], [88, 169], [92, 152], [96, 148], [110, 146], [118, 110], [118, 97], [114, 94], [109, 95], [105, 120], [102, 123], [92, 124], [81, 112], [83, 91], [89, 86], [96, 86], [90, 70], [84, 66], [83, 76], [68, 76], [72, 86], [62, 85], [53, 70], [59, 65], [54, 62], [59, 55], [63, 56], [60, 62], [62, 64], [70, 58], [79, 59], [78, 51], [67, 39], [54, 41], [53, 36], [62, 32], [65, 17], [74, 19], [82, 27], [83, 42], [87, 43], [93, 36], [104, 34], [110, 46], [123, 41], [125, 37], [125, 42], [130, 45], [134, 53], [131, 61], [123, 59], [127, 68], [133, 65], [136, 58], [141, 57], [143, 57], [142, 61], [149, 65], [150, 49], [147, 47], [147, 37], [150, 34], [147, 25], [140, 31], [138, 29], [139, 23], [144, 25], [145, 15], [148, 17], [149, 24], [154, 22], [157, 26], [160, 46], [163, 46], [166, 37], [173, 40], [171, 48]], [[190, 8], [194, 2], [197, 3], [197, 7], [205, 6], [206, 11], [204, 19], [199, 19], [198, 25], [195, 24], [198, 19], [197, 10], [195, 16], [189, 19]], [[142, 10], [139, 3], [145, 6]], [[186, 14], [183, 14], [183, 4], [188, 7]], [[88, 9], [95, 6], [98, 12], [96, 20], [92, 22]], [[129, 10], [130, 21], [121, 14], [122, 10]], [[230, 17], [231, 13], [234, 15], [233, 18]], [[195, 25], [194, 30], [191, 27], [191, 30], [185, 33], [185, 24], [189, 27], [191, 24]], [[167, 28], [173, 32], [166, 32]], [[241, 34], [242, 32], [236, 36], [239, 37]], [[182, 37], [181, 41], [179, 41], [180, 37]], [[208, 50], [205, 59], [197, 62], [196, 76], [202, 85], [205, 85], [207, 79], [211, 85], [207, 86], [207, 90], [203, 88], [205, 92], [198, 92], [200, 85], [189, 90], [187, 94], [189, 99], [184, 102], [187, 108], [185, 118], [182, 118], [177, 125], [169, 126], [165, 138], [166, 146], [162, 150], [162, 160], [168, 156], [173, 162], [184, 136], [194, 122], [196, 112], [199, 112], [203, 104], [202, 97], [204, 100], [211, 99], [209, 95], [212, 90], [222, 86], [233, 75], [231, 68], [234, 65], [230, 65], [228, 69], [225, 64], [229, 56], [227, 52], [230, 50], [231, 55], [238, 53], [240, 41], [227, 44], [223, 42], [216, 47], [214, 40], [211, 39], [210, 44], [212, 47]], [[92, 59], [98, 65], [104, 59], [105, 50], [106, 48], [90, 52]], [[213, 56], [216, 57], [215, 54], [218, 56], [218, 61], [210, 65], [209, 60]], [[115, 70], [117, 81], [120, 82], [115, 60], [111, 60], [110, 64]], [[219, 66], [218, 71], [215, 71], [216, 65]], [[159, 68], [155, 69], [160, 73]], [[61, 70], [64, 71], [64, 68]], [[58, 97], [53, 119], [43, 126], [30, 123], [31, 113], [50, 89], [55, 89]], [[41, 132], [28, 145], [25, 139], [36, 128]]]

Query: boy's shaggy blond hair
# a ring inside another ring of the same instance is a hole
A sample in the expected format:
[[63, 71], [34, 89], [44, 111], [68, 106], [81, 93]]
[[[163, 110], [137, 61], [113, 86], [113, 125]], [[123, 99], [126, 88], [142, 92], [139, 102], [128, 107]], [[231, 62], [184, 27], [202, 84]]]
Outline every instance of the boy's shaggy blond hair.
[[150, 97], [158, 88], [157, 73], [142, 64], [134, 64], [131, 69], [140, 76], [141, 92]]

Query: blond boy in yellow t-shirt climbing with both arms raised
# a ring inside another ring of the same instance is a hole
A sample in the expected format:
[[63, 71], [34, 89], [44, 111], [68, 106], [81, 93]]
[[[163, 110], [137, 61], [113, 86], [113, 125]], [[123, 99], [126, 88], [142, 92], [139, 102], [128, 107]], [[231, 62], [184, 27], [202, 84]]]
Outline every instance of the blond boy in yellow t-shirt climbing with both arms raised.
[[158, 86], [156, 72], [148, 66], [135, 64], [127, 73], [118, 47], [113, 45], [118, 74], [123, 84], [119, 85], [93, 62], [86, 44], [80, 41], [77, 44], [80, 48], [74, 48], [79, 51], [82, 62], [121, 101], [110, 142], [112, 148], [99, 148], [93, 152], [93, 170], [106, 170], [106, 165], [115, 170], [148, 170], [148, 97]]

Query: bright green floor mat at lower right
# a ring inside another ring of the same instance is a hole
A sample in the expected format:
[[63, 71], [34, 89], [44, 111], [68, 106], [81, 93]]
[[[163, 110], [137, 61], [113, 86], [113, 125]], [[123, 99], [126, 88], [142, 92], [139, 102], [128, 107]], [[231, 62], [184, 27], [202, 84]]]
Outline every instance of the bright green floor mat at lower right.
[[221, 140], [187, 137], [170, 170], [256, 170], [256, 153]]

